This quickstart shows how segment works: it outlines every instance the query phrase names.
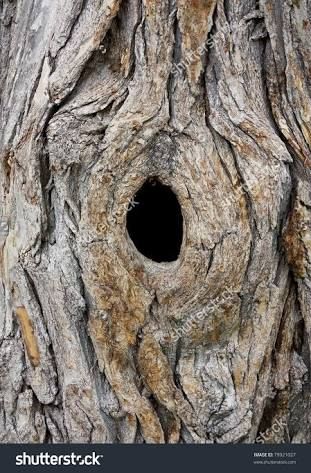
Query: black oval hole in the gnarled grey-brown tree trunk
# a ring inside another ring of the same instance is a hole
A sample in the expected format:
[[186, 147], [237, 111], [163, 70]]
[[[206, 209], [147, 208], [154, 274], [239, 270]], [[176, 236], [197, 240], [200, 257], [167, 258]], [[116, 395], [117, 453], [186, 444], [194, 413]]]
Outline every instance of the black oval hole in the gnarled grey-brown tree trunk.
[[183, 238], [183, 217], [169, 186], [149, 179], [135, 194], [127, 212], [127, 230], [136, 248], [147, 258], [175, 261]]

